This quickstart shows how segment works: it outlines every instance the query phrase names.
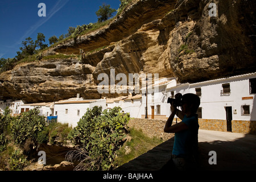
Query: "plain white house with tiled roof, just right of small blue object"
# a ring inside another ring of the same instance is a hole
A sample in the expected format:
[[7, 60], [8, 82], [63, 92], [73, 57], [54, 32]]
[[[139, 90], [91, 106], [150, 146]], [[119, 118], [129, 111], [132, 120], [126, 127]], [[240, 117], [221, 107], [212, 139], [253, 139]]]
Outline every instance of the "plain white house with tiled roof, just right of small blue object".
[[69, 126], [76, 127], [77, 122], [86, 113], [87, 109], [94, 106], [102, 106], [106, 109], [106, 100], [69, 100], [55, 102], [54, 116], [57, 116], [57, 122], [68, 123]]

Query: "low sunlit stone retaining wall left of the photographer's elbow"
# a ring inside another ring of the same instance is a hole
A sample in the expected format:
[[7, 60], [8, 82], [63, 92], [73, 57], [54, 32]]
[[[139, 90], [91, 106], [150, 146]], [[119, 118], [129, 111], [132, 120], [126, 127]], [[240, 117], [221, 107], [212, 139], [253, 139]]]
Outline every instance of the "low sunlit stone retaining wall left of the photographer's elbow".
[[166, 141], [174, 137], [174, 134], [164, 133], [163, 130], [165, 125], [166, 120], [160, 119], [132, 118], [128, 123], [129, 127], [134, 127], [138, 130], [141, 129], [148, 137], [159, 137]]

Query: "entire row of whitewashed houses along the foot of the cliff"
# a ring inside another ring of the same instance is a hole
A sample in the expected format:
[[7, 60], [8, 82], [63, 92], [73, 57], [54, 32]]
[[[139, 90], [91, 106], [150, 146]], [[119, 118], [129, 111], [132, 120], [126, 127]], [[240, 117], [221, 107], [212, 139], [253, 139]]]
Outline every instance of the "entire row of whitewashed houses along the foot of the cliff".
[[72, 127], [77, 126], [86, 110], [94, 106], [102, 106], [103, 110], [120, 106], [132, 118], [145, 118], [147, 108], [147, 118], [167, 119], [171, 114], [168, 97], [174, 98], [176, 93], [195, 93], [201, 101], [197, 110], [200, 129], [256, 134], [256, 72], [193, 84], [179, 84], [175, 78], [163, 78], [148, 88], [154, 88], [154, 92], [150, 90], [147, 96], [144, 94], [146, 88], [141, 88], [142, 94], [104, 100], [83, 100], [77, 94], [77, 98], [55, 103], [0, 101], [0, 112], [9, 107], [12, 115], [16, 115], [39, 106], [41, 115], [57, 116], [58, 122]]

